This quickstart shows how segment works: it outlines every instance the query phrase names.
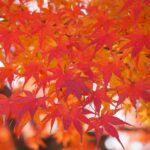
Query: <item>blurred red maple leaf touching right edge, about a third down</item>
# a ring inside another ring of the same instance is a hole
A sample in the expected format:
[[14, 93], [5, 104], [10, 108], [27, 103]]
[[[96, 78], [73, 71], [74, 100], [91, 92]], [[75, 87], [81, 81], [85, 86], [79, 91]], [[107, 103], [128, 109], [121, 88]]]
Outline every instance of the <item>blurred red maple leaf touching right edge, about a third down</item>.
[[150, 49], [150, 34], [130, 34], [127, 36], [129, 42], [125, 44], [121, 49], [128, 49], [132, 47], [132, 57], [136, 57], [145, 46]]

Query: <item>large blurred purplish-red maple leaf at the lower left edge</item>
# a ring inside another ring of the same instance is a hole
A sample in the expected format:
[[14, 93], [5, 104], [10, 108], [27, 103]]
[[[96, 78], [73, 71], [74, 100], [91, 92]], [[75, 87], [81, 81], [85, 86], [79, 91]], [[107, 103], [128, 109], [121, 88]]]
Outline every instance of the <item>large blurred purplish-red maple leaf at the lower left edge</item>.
[[11, 115], [16, 118], [16, 125], [21, 121], [22, 116], [29, 112], [33, 119], [35, 111], [38, 107], [45, 108], [44, 97], [36, 97], [36, 93], [24, 91], [25, 96], [20, 96], [19, 93], [13, 93], [10, 97], [0, 94], [0, 114], [5, 114], [7, 120]]

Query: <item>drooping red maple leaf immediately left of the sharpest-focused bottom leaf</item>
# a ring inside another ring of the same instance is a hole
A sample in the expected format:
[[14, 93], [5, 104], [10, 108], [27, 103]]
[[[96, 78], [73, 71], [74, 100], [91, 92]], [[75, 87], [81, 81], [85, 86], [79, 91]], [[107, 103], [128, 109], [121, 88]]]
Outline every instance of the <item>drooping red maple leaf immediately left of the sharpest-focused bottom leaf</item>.
[[[64, 129], [67, 130], [71, 123], [73, 123], [76, 130], [79, 132], [82, 140], [82, 122], [88, 124], [89, 120], [85, 117], [87, 114], [81, 106], [73, 105], [70, 108], [63, 104], [54, 104], [49, 108], [50, 113], [43, 119], [43, 122], [51, 120], [51, 128], [56, 120], [56, 118], [62, 118]], [[84, 114], [82, 114], [84, 111]]]

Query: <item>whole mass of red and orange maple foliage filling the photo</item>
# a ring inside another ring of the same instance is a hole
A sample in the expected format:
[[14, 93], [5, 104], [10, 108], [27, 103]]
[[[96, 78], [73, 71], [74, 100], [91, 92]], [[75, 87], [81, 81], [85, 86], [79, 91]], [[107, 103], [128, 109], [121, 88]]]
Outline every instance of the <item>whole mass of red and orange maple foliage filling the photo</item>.
[[81, 142], [94, 131], [122, 145], [116, 128], [130, 122], [115, 114], [133, 107], [150, 127], [150, 1], [31, 3], [0, 1], [0, 87], [12, 92], [0, 95], [1, 126], [14, 118], [19, 136], [28, 122], [40, 134], [57, 121]]

